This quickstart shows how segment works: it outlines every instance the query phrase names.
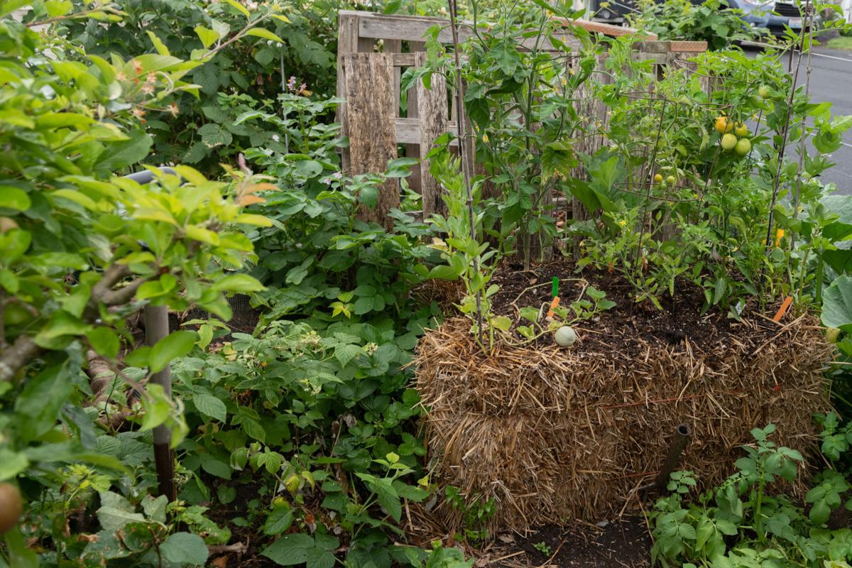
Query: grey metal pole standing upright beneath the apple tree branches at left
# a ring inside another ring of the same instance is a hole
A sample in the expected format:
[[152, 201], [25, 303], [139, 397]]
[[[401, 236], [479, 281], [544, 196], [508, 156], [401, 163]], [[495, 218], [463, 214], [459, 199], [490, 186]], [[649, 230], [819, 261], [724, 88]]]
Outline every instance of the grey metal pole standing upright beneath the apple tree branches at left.
[[[169, 308], [165, 306], [145, 307], [145, 340], [151, 347], [169, 335]], [[164, 370], [151, 376], [153, 384], [163, 387], [163, 392], [171, 399], [171, 369], [167, 364]], [[175, 501], [175, 455], [171, 449], [171, 431], [160, 425], [154, 428], [154, 463], [157, 467], [157, 483], [160, 495]]]

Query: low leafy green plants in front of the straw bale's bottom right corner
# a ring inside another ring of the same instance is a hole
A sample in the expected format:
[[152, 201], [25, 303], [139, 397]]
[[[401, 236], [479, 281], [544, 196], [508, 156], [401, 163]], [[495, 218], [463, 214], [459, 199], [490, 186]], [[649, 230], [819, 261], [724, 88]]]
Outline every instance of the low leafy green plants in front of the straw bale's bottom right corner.
[[774, 445], [769, 440], [774, 429], [770, 424], [752, 430], [755, 444], [744, 446], [746, 456], [737, 460], [737, 473], [698, 502], [684, 502], [696, 485], [692, 473], [672, 473], [671, 495], [659, 499], [650, 513], [654, 562], [767, 568], [845, 564], [852, 532], [825, 525], [844, 500], [852, 510], [849, 484], [838, 471], [820, 473], [805, 497], [807, 509], [780, 494], [773, 485], [796, 479], [802, 456]]

